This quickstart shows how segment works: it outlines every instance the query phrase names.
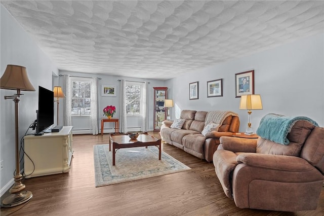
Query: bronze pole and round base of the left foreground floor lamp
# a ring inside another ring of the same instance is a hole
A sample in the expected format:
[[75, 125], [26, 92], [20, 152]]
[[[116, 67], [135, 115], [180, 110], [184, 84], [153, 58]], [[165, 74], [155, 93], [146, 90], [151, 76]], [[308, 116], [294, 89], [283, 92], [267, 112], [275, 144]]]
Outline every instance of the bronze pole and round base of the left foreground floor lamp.
[[[17, 90], [18, 91], [18, 90]], [[20, 95], [20, 91], [17, 92]], [[19, 167], [19, 119], [18, 119], [18, 97], [13, 96], [5, 96], [5, 99], [14, 98], [15, 101], [15, 135], [16, 135], [16, 171], [15, 171], [15, 184], [10, 189], [11, 195], [5, 198], [2, 202], [2, 207], [13, 207], [16, 205], [20, 205], [22, 203], [28, 202], [32, 198], [32, 193], [30, 191], [24, 191], [26, 186], [21, 183], [22, 181], [22, 174], [20, 174], [20, 167]]]

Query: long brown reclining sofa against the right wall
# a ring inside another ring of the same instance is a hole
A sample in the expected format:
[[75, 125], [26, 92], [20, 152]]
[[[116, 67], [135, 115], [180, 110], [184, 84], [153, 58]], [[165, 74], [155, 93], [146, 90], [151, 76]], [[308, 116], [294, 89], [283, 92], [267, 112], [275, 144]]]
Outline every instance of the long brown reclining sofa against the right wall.
[[214, 152], [220, 143], [219, 137], [232, 136], [232, 133], [238, 132], [239, 118], [235, 113], [228, 112], [224, 115], [218, 131], [203, 135], [201, 131], [205, 127], [208, 114], [209, 121], [213, 121], [211, 112], [183, 110], [180, 115], [180, 119], [185, 119], [182, 128], [170, 128], [173, 122], [164, 121], [160, 129], [161, 139], [197, 158], [213, 161]]

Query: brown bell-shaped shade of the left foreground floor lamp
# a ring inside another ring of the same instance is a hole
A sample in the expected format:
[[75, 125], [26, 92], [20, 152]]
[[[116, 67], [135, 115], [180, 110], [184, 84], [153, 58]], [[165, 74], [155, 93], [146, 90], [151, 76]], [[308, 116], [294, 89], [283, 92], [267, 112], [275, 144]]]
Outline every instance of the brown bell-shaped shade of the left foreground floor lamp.
[[26, 67], [12, 64], [7, 65], [5, 73], [0, 79], [0, 88], [35, 91], [28, 79]]

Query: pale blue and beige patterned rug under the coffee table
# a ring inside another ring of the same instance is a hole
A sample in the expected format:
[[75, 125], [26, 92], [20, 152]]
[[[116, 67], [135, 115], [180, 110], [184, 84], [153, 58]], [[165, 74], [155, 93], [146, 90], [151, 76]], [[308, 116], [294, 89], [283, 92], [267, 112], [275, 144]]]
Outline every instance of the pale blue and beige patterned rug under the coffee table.
[[115, 166], [112, 166], [112, 152], [109, 152], [109, 145], [95, 145], [94, 160], [96, 187], [191, 169], [163, 151], [161, 160], [158, 160], [158, 148], [155, 146], [149, 146], [147, 149], [145, 147], [118, 149]]

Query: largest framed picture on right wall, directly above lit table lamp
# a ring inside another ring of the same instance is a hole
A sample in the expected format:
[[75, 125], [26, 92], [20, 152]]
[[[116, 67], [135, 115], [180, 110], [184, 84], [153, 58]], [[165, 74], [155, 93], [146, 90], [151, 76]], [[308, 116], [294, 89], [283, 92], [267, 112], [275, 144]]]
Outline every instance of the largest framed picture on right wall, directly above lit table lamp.
[[235, 74], [235, 97], [254, 94], [254, 70]]

